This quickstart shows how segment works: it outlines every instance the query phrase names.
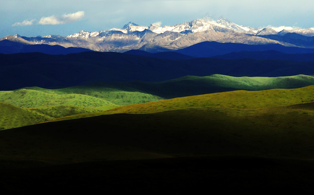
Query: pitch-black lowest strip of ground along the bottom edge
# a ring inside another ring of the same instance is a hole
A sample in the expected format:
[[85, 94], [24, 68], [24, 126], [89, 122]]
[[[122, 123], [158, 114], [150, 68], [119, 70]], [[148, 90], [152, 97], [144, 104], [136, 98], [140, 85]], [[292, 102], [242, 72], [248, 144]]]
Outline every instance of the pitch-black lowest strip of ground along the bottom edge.
[[311, 194], [314, 182], [310, 160], [223, 155], [86, 162], [0, 170], [0, 173], [1, 191], [20, 194], [47, 189], [51, 193], [90, 193], [104, 189], [112, 194], [193, 194], [208, 188], [237, 194], [252, 194], [257, 190]]

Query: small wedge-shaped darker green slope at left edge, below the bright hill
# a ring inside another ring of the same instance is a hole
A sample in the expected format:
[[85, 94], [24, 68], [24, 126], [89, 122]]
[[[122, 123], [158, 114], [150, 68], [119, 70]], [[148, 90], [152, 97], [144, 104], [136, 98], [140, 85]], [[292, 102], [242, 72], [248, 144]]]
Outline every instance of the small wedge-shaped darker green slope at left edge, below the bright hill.
[[0, 102], [0, 130], [31, 125], [52, 117]]

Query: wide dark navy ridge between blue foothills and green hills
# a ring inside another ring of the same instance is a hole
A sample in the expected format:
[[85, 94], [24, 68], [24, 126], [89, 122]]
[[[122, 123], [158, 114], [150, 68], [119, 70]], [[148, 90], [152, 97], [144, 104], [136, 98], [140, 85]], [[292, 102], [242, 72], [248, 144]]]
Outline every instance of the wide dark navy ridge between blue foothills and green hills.
[[0, 54], [0, 90], [67, 87], [95, 82], [166, 81], [187, 75], [314, 75], [314, 62], [195, 58], [167, 60], [123, 53]]

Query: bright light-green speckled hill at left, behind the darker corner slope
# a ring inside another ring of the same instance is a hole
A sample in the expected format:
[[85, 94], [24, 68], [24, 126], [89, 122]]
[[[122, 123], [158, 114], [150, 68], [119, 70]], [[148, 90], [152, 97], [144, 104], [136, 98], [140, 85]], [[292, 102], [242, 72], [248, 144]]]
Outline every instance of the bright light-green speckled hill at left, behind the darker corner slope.
[[[32, 113], [36, 112], [46, 118], [46, 120], [30, 120], [26, 123], [28, 125], [73, 114], [105, 111], [119, 106], [88, 95], [62, 94], [39, 87], [34, 88], [40, 90], [19, 89], [0, 92], [0, 101], [24, 108], [23, 110], [29, 110]], [[9, 111], [2, 114], [7, 114], [7, 118], [11, 117]], [[23, 126], [24, 123], [16, 123], [14, 127]], [[3, 121], [0, 124], [2, 125]]]

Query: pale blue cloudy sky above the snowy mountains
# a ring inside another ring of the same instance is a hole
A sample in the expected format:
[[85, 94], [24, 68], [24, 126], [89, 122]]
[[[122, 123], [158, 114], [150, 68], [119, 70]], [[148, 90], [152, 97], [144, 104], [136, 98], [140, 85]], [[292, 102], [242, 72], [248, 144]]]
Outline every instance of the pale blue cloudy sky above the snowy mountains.
[[312, 28], [314, 0], [0, 0], [0, 37], [174, 25], [205, 14], [252, 27]]

